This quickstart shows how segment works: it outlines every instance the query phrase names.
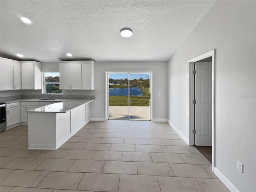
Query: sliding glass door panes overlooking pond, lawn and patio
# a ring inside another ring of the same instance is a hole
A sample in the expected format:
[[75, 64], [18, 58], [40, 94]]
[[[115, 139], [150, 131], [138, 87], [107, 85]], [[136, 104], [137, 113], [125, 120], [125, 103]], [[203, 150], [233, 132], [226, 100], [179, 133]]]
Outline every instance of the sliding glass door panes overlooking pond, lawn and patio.
[[151, 72], [107, 72], [109, 120], [151, 120]]

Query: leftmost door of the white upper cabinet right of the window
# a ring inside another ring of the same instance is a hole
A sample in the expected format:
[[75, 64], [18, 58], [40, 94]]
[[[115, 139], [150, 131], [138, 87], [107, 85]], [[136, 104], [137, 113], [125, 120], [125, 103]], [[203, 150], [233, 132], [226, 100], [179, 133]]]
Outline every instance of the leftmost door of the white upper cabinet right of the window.
[[70, 89], [69, 63], [60, 63], [60, 89]]

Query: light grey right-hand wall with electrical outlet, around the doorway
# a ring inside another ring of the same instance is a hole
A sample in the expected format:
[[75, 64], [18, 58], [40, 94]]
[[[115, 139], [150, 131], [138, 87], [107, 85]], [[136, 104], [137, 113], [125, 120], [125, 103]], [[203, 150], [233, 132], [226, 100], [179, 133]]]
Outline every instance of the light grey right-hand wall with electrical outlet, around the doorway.
[[[256, 2], [216, 1], [168, 61], [168, 119], [188, 134], [188, 64], [216, 49], [216, 168], [256, 191]], [[244, 173], [237, 170], [237, 160]]]

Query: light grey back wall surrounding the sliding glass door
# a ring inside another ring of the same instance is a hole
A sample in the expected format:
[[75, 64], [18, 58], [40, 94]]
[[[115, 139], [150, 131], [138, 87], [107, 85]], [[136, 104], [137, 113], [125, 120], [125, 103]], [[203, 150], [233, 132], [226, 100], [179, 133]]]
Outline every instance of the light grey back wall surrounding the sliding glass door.
[[153, 115], [154, 118], [167, 118], [167, 62], [96, 62], [95, 90], [76, 91], [76, 94], [95, 95], [95, 101], [91, 103], [91, 118], [105, 118], [105, 71], [109, 70], [152, 70]]

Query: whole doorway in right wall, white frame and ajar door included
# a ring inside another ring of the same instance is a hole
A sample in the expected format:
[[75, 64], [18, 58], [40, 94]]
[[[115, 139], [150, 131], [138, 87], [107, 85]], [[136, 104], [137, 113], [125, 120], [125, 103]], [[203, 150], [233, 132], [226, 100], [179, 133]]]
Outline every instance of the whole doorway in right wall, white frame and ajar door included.
[[214, 171], [214, 50], [188, 60], [188, 142], [211, 163]]

